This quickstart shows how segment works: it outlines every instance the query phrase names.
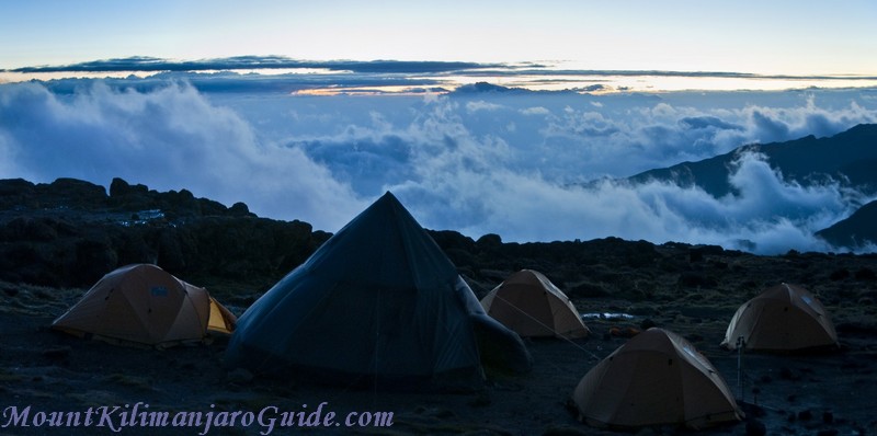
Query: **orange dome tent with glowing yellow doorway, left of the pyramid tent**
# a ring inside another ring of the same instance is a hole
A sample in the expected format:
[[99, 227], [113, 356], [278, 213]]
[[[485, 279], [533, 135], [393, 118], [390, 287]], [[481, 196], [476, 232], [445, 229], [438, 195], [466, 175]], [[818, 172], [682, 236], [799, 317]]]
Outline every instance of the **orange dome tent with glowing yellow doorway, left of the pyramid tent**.
[[208, 331], [230, 334], [236, 321], [206, 289], [156, 265], [133, 264], [103, 276], [52, 329], [112, 343], [167, 347], [203, 341]]

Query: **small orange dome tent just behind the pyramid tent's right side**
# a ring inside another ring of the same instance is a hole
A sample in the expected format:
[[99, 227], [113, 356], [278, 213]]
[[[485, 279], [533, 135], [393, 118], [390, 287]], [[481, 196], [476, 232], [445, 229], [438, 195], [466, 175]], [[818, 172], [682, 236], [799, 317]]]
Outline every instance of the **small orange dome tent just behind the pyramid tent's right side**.
[[569, 297], [537, 271], [510, 275], [481, 299], [481, 306], [523, 337], [576, 339], [590, 333]]

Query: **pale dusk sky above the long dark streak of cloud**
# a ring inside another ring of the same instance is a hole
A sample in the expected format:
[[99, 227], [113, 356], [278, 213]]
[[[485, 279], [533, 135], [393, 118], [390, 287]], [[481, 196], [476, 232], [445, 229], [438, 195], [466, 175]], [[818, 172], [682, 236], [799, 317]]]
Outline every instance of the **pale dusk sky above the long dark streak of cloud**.
[[0, 69], [150, 56], [877, 76], [877, 3], [0, 1]]

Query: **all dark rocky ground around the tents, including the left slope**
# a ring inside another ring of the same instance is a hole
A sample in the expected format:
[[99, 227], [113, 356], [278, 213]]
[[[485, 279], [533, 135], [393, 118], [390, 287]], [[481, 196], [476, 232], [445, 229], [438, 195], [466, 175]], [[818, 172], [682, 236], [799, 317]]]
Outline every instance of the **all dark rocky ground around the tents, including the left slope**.
[[[582, 313], [629, 317], [588, 317], [592, 335], [583, 340], [527, 341], [533, 372], [490, 372], [481, 391], [362, 391], [312, 386], [294, 375], [277, 380], [228, 371], [221, 365], [227, 343], [221, 336], [209, 345], [155, 351], [81, 341], [47, 330], [102, 274], [130, 262], [157, 261], [186, 282], [206, 287], [240, 314], [328, 234], [303, 222], [254, 217], [243, 205], [225, 208], [191, 194], [155, 193], [123, 181], [114, 182], [110, 195], [80, 182], [62, 181], [54, 190], [22, 182], [15, 188], [0, 183], [0, 406], [4, 411], [27, 405], [34, 412], [118, 405], [124, 412], [125, 404], [141, 402], [149, 410], [171, 413], [258, 412], [272, 405], [312, 412], [327, 402], [326, 410], [339, 415], [392, 412], [394, 425], [274, 428], [272, 434], [614, 434], [577, 422], [568, 408], [569, 395], [599, 359], [626, 341], [611, 331], [658, 325], [688, 339], [739, 398], [758, 404], [747, 408], [749, 422], [705, 434], [759, 434], [761, 426], [767, 434], [877, 432], [877, 255], [756, 256], [717, 246], [612, 238], [515, 244], [498, 236], [472, 240], [435, 231], [433, 238], [478, 297], [526, 267], [543, 272]], [[60, 187], [67, 190], [64, 195], [50, 197], [45, 192], [57, 194]], [[16, 193], [27, 195], [12, 198]], [[70, 203], [71, 198], [79, 199]], [[138, 214], [148, 210], [157, 213]], [[799, 284], [820, 298], [838, 328], [842, 349], [817, 355], [747, 354], [741, 386], [738, 355], [718, 344], [738, 306], [781, 282]], [[0, 435], [115, 434], [107, 427], [2, 427], [8, 420], [0, 421]], [[254, 424], [207, 434], [266, 431]], [[117, 434], [202, 432], [203, 427], [135, 426]], [[679, 432], [687, 433], [661, 427], [640, 434]]]

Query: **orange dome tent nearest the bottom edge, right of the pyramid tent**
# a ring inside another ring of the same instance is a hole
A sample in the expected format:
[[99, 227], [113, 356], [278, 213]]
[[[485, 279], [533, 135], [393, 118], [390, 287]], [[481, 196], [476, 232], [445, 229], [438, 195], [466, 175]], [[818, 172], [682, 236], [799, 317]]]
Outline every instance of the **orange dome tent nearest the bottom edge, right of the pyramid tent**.
[[572, 395], [581, 421], [615, 429], [704, 428], [743, 413], [713, 364], [677, 334], [651, 328], [582, 377]]

